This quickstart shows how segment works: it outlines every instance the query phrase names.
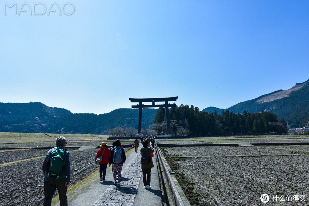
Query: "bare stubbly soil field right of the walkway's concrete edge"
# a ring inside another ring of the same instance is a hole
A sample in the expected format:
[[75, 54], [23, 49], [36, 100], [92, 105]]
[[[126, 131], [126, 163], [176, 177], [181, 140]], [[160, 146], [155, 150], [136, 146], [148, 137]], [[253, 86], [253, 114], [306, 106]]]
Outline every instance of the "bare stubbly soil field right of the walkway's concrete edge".
[[[290, 153], [269, 148], [233, 147], [160, 148], [166, 156], [193, 156], [200, 153], [233, 154]], [[190, 155], [191, 154], [191, 155]], [[297, 154], [297, 153], [296, 153]], [[271, 198], [281, 195], [309, 195], [308, 155], [265, 157], [166, 158], [192, 206], [265, 205], [264, 193]], [[190, 169], [189, 169], [190, 168]], [[279, 201], [279, 200], [278, 200]], [[282, 203], [282, 202], [281, 202]], [[302, 205], [303, 202], [284, 202]], [[270, 204], [269, 204], [270, 205]], [[279, 202], [276, 203], [279, 205]], [[280, 204], [281, 205], [281, 204]]]

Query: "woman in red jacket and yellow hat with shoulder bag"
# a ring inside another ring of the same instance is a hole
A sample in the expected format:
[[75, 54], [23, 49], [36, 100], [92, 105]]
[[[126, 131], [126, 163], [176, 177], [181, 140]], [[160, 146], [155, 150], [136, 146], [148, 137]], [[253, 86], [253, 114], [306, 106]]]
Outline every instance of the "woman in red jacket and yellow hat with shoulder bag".
[[[100, 180], [105, 181], [106, 168], [109, 159], [109, 149], [107, 148], [108, 144], [106, 142], [102, 142], [100, 144], [100, 148], [98, 149], [97, 155], [95, 156], [95, 162], [98, 162], [100, 165], [99, 174]], [[98, 158], [102, 157], [102, 160], [97, 161]]]

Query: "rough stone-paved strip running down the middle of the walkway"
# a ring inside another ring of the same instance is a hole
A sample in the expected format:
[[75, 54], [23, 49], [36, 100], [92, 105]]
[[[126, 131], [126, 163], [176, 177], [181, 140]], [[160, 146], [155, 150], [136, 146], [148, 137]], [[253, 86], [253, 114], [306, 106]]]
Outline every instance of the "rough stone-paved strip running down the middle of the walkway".
[[124, 164], [125, 169], [121, 172], [123, 178], [120, 187], [109, 186], [93, 206], [132, 206], [141, 179], [142, 169], [136, 166], [140, 159], [141, 154], [138, 153], [129, 165], [125, 167]]

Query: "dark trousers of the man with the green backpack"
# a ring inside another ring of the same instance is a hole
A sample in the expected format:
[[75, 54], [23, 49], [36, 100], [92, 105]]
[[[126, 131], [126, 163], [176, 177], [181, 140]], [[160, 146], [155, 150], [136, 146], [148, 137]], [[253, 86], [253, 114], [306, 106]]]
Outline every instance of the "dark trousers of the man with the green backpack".
[[47, 181], [44, 181], [44, 206], [51, 206], [53, 195], [58, 190], [60, 206], [68, 205], [68, 198], [66, 196], [66, 179], [56, 179], [52, 178]]

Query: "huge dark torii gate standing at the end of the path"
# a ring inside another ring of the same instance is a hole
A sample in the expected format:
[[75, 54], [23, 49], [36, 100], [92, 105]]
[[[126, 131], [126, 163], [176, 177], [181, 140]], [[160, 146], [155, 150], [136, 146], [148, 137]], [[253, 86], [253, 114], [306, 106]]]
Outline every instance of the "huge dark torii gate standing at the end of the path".
[[[177, 97], [166, 97], [166, 98], [146, 98], [146, 99], [134, 99], [129, 98], [131, 102], [138, 102], [138, 105], [132, 105], [132, 108], [138, 108], [138, 134], [142, 131], [142, 108], [146, 107], [165, 107], [166, 115], [166, 131], [170, 132], [170, 114], [168, 107], [176, 107], [176, 104], [170, 104], [169, 101], [176, 101]], [[152, 102], [150, 105], [143, 105], [143, 102]], [[165, 102], [163, 104], [155, 104], [155, 102]]]

